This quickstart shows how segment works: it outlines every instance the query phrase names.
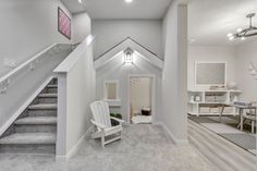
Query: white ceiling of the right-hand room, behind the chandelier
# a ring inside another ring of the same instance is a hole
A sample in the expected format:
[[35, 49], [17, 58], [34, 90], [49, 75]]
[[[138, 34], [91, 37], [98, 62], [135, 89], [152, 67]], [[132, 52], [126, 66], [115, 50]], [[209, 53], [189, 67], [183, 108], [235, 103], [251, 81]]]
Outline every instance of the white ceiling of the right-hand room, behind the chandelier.
[[[227, 35], [247, 27], [245, 15], [252, 12], [257, 13], [257, 0], [191, 0], [188, 37], [195, 39], [193, 45], [237, 45], [241, 40], [231, 42]], [[254, 24], [257, 25], [257, 16]]]

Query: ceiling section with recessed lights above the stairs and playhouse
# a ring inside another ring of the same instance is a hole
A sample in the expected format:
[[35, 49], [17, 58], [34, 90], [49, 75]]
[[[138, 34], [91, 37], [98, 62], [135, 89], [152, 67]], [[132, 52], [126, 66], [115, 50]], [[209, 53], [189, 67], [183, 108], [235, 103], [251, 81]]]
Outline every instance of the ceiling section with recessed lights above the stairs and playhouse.
[[86, 11], [91, 19], [162, 19], [171, 0], [62, 0], [72, 13]]

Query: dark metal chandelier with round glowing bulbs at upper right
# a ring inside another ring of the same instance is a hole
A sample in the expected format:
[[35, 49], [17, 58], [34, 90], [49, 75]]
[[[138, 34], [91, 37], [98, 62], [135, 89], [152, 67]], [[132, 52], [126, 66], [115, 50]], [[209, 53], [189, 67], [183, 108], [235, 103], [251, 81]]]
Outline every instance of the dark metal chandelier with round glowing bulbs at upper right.
[[250, 13], [246, 15], [247, 19], [249, 19], [249, 27], [248, 28], [237, 28], [236, 33], [228, 34], [229, 40], [233, 40], [235, 38], [240, 38], [241, 40], [244, 40], [246, 37], [257, 36], [257, 27], [253, 26], [253, 17], [255, 16], [255, 13]]

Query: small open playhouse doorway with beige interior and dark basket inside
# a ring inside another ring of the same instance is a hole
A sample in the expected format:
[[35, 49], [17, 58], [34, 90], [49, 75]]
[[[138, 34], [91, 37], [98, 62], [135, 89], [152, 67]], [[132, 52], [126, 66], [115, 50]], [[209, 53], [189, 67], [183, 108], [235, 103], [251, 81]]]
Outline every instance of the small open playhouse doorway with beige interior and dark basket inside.
[[155, 76], [128, 76], [128, 119], [132, 124], [151, 124], [155, 114]]

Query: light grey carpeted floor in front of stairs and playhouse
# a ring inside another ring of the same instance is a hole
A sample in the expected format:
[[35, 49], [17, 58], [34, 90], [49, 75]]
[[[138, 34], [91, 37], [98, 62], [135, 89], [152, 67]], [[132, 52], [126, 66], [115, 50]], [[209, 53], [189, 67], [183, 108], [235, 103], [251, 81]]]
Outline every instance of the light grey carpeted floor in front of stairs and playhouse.
[[108, 145], [85, 139], [65, 163], [53, 156], [0, 155], [1, 171], [210, 171], [191, 145], [175, 146], [159, 126], [131, 125], [123, 139]]

